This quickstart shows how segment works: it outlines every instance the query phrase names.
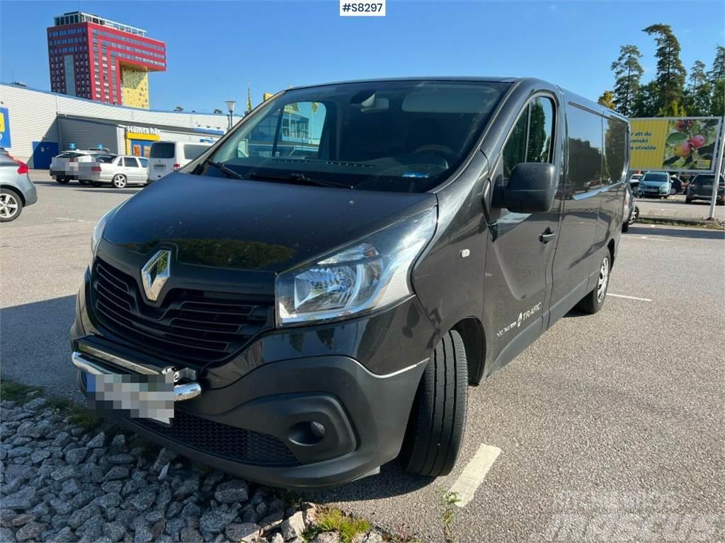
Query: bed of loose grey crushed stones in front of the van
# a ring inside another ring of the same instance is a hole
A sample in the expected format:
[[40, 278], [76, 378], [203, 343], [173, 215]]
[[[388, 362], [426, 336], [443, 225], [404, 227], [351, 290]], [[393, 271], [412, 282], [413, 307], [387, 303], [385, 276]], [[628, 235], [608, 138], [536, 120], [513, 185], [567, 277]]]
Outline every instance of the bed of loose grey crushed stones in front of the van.
[[40, 395], [0, 407], [0, 542], [340, 542], [315, 534], [311, 503], [291, 505], [113, 426], [86, 429]]

